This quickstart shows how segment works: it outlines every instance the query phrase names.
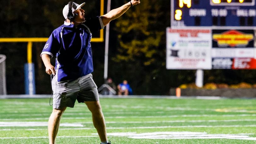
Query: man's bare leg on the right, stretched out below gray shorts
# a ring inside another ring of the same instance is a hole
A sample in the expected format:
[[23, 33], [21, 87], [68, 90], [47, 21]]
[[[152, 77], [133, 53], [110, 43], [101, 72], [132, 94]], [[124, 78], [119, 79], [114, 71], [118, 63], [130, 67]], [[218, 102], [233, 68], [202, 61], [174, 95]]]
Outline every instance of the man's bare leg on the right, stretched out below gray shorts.
[[96, 128], [101, 141], [107, 141], [105, 119], [101, 110], [100, 102], [85, 102], [88, 109], [92, 112], [92, 122]]

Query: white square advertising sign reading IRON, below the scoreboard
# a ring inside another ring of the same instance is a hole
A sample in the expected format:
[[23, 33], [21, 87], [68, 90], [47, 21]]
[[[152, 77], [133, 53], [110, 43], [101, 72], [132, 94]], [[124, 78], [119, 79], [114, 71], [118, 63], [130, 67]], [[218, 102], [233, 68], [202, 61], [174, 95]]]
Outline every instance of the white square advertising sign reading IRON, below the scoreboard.
[[166, 69], [211, 69], [211, 30], [166, 29]]

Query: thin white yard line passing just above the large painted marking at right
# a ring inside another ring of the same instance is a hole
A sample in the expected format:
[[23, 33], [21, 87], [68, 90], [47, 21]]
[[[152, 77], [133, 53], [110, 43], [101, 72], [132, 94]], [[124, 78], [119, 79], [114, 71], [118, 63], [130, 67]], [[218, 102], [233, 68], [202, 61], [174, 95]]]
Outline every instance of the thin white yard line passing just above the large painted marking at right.
[[[211, 128], [211, 127], [256, 127], [256, 125], [188, 125], [188, 126], [145, 126], [145, 127], [108, 127], [108, 129], [156, 129], [156, 128]], [[62, 128], [59, 130], [94, 130], [95, 128]], [[45, 129], [0, 129], [9, 130], [47, 130]]]

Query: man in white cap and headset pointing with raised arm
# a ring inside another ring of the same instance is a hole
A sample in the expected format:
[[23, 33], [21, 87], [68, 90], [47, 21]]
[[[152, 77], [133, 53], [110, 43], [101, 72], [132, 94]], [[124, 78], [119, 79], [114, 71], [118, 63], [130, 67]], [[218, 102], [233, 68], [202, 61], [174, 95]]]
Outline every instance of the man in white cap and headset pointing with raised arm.
[[[46, 67], [46, 73], [53, 74], [53, 112], [48, 121], [49, 143], [54, 144], [58, 133], [59, 122], [67, 107], [74, 107], [75, 100], [84, 102], [92, 112], [93, 125], [96, 128], [101, 144], [108, 144], [106, 125], [101, 110], [97, 86], [92, 79], [92, 51], [91, 30], [103, 29], [111, 20], [120, 17], [131, 6], [140, 0], [131, 0], [123, 6], [111, 10], [109, 13], [85, 19], [85, 11], [70, 2], [63, 8], [66, 19], [53, 31], [46, 42], [41, 57]], [[50, 58], [56, 56], [55, 67]]]

